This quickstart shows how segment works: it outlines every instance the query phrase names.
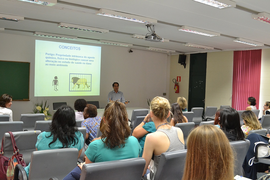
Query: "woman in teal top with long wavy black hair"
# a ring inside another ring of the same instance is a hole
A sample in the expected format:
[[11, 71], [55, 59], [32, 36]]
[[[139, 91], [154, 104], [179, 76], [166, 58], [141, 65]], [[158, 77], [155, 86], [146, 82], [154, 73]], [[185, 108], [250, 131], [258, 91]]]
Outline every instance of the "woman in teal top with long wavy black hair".
[[[74, 110], [70, 106], [63, 105], [54, 113], [49, 131], [38, 135], [36, 150], [77, 148], [79, 158], [83, 145], [83, 135], [78, 131]], [[25, 167], [27, 176], [29, 167], [30, 163]]]

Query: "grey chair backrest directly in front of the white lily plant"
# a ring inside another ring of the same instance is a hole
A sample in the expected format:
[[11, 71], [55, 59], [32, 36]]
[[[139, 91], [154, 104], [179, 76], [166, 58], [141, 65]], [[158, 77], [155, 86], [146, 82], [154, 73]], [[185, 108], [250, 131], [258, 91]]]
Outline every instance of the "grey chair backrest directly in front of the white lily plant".
[[44, 121], [45, 114], [21, 114], [20, 121], [23, 122], [23, 130], [34, 130], [36, 121]]

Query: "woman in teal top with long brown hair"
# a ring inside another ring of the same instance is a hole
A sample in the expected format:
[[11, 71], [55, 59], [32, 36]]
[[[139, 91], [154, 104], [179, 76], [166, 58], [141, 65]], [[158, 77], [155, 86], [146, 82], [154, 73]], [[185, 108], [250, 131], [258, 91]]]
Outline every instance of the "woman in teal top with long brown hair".
[[104, 111], [101, 138], [92, 141], [85, 151], [85, 162], [79, 164], [63, 180], [80, 179], [83, 164], [136, 158], [141, 146], [138, 140], [130, 136], [126, 107], [122, 102], [110, 102]]

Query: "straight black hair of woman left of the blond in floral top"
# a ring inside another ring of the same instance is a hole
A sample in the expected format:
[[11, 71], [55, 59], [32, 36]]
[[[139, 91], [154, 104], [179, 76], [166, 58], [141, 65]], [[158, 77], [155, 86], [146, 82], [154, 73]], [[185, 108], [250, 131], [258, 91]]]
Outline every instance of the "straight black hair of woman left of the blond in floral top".
[[234, 108], [225, 108], [220, 112], [220, 127], [224, 131], [231, 131], [235, 134], [235, 141], [245, 139], [240, 125], [239, 114]]

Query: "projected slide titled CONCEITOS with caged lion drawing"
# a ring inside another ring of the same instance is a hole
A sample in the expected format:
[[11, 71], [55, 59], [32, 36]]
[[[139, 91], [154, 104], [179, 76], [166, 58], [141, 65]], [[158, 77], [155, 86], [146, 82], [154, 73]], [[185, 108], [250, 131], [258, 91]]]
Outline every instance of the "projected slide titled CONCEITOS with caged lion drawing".
[[35, 96], [97, 96], [101, 47], [36, 40]]

